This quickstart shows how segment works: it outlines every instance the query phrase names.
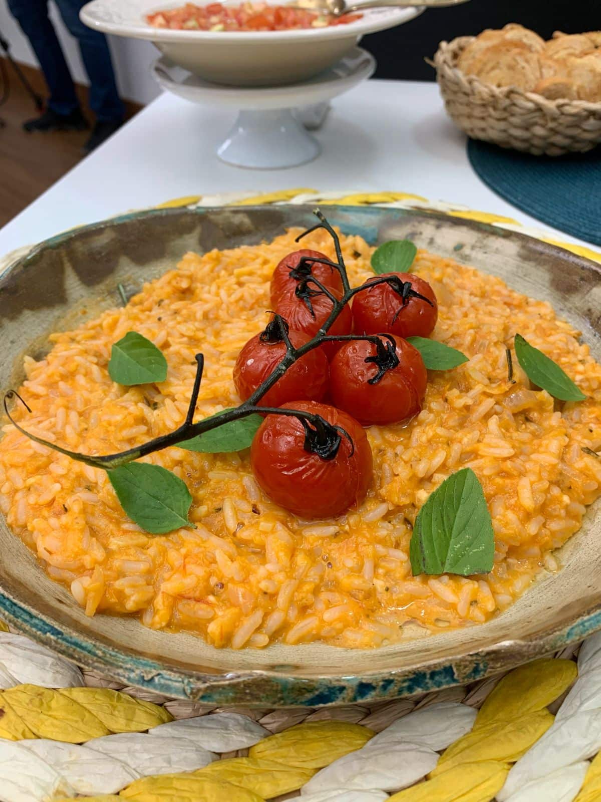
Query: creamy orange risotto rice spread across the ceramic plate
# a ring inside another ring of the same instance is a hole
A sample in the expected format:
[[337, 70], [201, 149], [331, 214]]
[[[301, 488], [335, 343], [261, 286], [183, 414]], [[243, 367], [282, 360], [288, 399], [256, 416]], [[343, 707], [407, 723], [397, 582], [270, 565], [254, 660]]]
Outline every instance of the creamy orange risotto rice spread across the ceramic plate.
[[[124, 309], [53, 334], [40, 362], [27, 357], [16, 407], [30, 431], [67, 448], [106, 454], [182, 423], [196, 364], [206, 369], [197, 419], [240, 403], [232, 367], [262, 329], [269, 280], [296, 249], [294, 233], [268, 245], [188, 253], [177, 269], [144, 286]], [[343, 237], [351, 284], [372, 274], [372, 249]], [[303, 247], [334, 257], [316, 232]], [[405, 622], [428, 628], [484, 622], [506, 609], [541, 569], [558, 568], [552, 549], [579, 529], [599, 496], [601, 367], [578, 332], [547, 303], [496, 277], [420, 251], [413, 272], [440, 306], [434, 337], [469, 363], [430, 374], [426, 404], [409, 426], [371, 427], [374, 477], [362, 507], [337, 520], [299, 520], [262, 496], [248, 452], [210, 455], [167, 448], [163, 465], [192, 492], [197, 529], [143, 533], [119, 506], [102, 470], [74, 462], [5, 427], [0, 442], [0, 508], [54, 580], [87, 614], [133, 614], [155, 629], [190, 630], [215, 646], [378, 646]], [[135, 330], [167, 357], [167, 381], [111, 382], [111, 345]], [[543, 350], [590, 396], [555, 409], [531, 391], [505, 345], [515, 332]], [[412, 577], [409, 538], [417, 510], [458, 468], [482, 482], [494, 525], [494, 569], [476, 577]]]

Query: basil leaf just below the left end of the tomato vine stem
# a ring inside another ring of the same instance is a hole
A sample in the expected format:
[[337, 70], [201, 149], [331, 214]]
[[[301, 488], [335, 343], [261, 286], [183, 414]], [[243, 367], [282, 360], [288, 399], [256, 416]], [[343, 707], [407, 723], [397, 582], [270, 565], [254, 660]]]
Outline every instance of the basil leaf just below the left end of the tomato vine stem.
[[192, 496], [185, 482], [159, 465], [130, 462], [107, 471], [119, 503], [146, 532], [163, 535], [188, 520]]

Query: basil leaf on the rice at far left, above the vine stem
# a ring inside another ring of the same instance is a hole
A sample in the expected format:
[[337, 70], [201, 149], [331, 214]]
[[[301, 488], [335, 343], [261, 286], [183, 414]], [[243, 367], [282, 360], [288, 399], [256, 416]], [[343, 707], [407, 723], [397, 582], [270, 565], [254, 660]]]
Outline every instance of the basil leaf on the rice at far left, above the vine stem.
[[153, 342], [128, 331], [115, 342], [108, 363], [108, 375], [114, 382], [132, 387], [135, 384], [164, 382], [167, 379], [167, 359]]

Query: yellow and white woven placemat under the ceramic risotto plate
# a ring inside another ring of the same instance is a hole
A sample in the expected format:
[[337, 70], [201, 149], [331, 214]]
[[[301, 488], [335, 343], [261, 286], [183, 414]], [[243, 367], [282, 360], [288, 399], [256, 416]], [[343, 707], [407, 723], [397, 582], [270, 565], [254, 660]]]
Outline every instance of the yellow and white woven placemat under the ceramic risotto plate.
[[[552, 241], [510, 218], [403, 192], [291, 189], [163, 206], [281, 202], [433, 209]], [[601, 800], [601, 634], [467, 687], [274, 711], [123, 688], [0, 622], [0, 688], [0, 802]]]

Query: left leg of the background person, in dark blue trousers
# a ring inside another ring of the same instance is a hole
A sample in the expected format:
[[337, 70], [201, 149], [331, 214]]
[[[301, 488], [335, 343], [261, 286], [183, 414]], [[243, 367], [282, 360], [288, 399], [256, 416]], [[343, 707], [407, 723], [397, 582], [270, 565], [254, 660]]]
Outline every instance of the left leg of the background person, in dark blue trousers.
[[42, 67], [50, 91], [48, 108], [61, 117], [74, 115], [79, 111], [79, 102], [54, 26], [48, 18], [47, 0], [8, 0], [8, 6]]

